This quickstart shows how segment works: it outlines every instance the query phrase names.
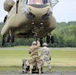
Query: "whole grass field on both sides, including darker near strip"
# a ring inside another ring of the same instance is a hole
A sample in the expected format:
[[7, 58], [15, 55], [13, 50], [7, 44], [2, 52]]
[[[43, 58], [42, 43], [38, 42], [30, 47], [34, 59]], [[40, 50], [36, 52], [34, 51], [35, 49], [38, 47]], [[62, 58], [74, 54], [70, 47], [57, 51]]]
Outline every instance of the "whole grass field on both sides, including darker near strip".
[[[29, 59], [29, 47], [0, 48], [0, 73], [21, 70], [22, 59]], [[76, 72], [76, 48], [50, 48], [52, 72], [57, 70]], [[44, 67], [47, 70], [46, 63]], [[4, 71], [4, 72], [3, 72]]]

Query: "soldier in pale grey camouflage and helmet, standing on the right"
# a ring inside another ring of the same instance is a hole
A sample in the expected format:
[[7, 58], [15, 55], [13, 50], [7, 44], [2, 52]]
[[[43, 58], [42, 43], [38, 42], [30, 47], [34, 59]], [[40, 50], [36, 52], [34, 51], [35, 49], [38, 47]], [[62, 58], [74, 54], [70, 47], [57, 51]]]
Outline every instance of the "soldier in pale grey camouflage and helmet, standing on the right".
[[50, 49], [47, 47], [47, 43], [43, 43], [43, 48], [41, 49], [41, 53], [40, 56], [42, 56], [42, 61], [43, 61], [43, 65], [44, 62], [47, 63], [49, 70], [51, 70], [51, 64], [50, 64], [50, 60], [51, 60], [51, 54], [50, 54]]

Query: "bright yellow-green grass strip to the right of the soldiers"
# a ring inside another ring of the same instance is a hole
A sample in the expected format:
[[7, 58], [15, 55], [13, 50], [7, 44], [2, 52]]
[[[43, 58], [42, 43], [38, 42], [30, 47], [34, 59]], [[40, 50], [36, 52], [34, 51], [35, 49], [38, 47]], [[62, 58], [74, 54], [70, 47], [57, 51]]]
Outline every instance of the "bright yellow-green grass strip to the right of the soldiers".
[[76, 66], [76, 50], [51, 51], [52, 65], [54, 66]]

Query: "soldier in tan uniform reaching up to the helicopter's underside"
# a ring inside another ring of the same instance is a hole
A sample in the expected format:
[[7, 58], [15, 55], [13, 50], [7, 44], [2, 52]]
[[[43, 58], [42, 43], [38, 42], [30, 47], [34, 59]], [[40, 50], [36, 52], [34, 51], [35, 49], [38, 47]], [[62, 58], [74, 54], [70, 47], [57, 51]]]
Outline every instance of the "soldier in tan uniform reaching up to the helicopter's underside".
[[31, 59], [29, 60], [30, 63], [30, 74], [32, 73], [32, 69], [33, 69], [33, 64], [36, 62], [37, 63], [37, 67], [39, 69], [39, 73], [41, 73], [41, 65], [40, 65], [40, 57], [38, 55], [38, 49], [40, 47], [40, 42], [39, 41], [34, 41], [32, 43], [32, 46], [30, 47], [30, 51], [29, 54], [31, 56]]

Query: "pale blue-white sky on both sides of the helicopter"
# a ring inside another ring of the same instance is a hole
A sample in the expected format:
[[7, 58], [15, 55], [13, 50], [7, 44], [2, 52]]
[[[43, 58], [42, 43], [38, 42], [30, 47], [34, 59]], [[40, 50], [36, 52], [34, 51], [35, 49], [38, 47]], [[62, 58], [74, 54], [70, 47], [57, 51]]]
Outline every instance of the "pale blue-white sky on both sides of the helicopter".
[[[3, 9], [5, 0], [0, 0], [0, 22], [3, 22], [7, 12]], [[76, 0], [59, 0], [53, 7], [53, 16], [57, 22], [76, 21]]]

